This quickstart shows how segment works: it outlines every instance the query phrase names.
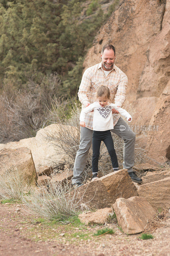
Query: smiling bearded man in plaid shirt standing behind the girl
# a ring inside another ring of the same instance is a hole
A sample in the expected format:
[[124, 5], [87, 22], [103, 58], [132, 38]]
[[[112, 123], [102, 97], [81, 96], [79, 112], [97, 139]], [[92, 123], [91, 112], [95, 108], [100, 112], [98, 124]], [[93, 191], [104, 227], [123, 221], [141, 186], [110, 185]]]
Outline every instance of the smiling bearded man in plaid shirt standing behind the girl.
[[[114, 64], [115, 58], [115, 47], [112, 44], [105, 44], [101, 52], [102, 62], [86, 69], [84, 72], [78, 92], [83, 108], [96, 101], [95, 94], [100, 85], [106, 85], [110, 89], [110, 103], [115, 100], [117, 107], [122, 108], [124, 105], [128, 79]], [[128, 170], [128, 174], [134, 182], [141, 183], [142, 179], [138, 178], [132, 169], [135, 156], [135, 133], [128, 129], [128, 124], [118, 115], [117, 110], [113, 109], [112, 112], [114, 129], [110, 131], [124, 140], [123, 166]], [[85, 119], [86, 127], [81, 127], [80, 146], [74, 162], [72, 183], [75, 187], [82, 185], [86, 159], [92, 144], [92, 122], [93, 113], [89, 112]]]

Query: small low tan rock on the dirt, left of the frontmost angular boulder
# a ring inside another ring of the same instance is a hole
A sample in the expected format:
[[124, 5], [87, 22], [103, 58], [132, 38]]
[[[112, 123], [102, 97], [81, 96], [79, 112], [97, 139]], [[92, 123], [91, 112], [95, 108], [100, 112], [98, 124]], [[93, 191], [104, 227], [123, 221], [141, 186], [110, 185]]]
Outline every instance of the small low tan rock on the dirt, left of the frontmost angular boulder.
[[83, 212], [79, 214], [79, 219], [85, 225], [92, 224], [104, 224], [108, 219], [109, 215], [113, 214], [112, 208], [99, 209], [96, 212]]

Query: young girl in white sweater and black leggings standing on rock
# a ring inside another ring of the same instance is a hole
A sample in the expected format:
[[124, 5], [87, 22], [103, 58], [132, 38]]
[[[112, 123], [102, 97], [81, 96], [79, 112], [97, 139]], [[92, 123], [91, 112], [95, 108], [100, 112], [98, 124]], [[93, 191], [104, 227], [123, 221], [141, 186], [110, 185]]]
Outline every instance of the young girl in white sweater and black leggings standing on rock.
[[114, 149], [114, 143], [111, 136], [110, 129], [113, 129], [112, 109], [115, 108], [122, 116], [125, 116], [131, 122], [131, 115], [123, 108], [118, 108], [115, 104], [109, 103], [110, 90], [107, 86], [101, 85], [96, 92], [97, 102], [90, 104], [87, 108], [81, 110], [80, 126], [85, 127], [85, 116], [88, 112], [94, 110], [93, 115], [93, 136], [92, 136], [92, 180], [98, 179], [98, 160], [100, 155], [101, 141], [107, 147], [109, 152], [113, 171], [119, 168], [117, 162], [117, 155]]

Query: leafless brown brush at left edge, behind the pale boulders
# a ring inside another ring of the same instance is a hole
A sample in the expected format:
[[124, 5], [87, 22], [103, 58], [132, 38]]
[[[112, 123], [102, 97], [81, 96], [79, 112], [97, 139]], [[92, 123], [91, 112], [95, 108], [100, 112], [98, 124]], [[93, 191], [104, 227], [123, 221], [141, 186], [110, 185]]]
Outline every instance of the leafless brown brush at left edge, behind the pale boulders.
[[60, 78], [54, 74], [47, 74], [30, 78], [26, 88], [13, 93], [4, 86], [4, 93], [0, 96], [0, 143], [18, 141], [33, 137], [38, 129], [49, 124], [50, 115], [46, 104], [50, 97], [54, 97], [60, 90]]

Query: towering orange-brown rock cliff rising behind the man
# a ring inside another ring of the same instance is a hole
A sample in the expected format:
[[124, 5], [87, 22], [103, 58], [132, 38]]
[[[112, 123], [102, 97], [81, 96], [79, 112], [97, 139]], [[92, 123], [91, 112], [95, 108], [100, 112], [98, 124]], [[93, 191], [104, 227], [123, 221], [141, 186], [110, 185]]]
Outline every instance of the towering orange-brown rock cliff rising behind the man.
[[84, 70], [99, 63], [102, 46], [115, 46], [115, 64], [129, 81], [124, 108], [133, 117], [131, 125], [139, 126], [141, 146], [159, 162], [170, 159], [169, 20], [170, 0], [166, 6], [163, 1], [125, 0], [100, 28], [83, 63]]

